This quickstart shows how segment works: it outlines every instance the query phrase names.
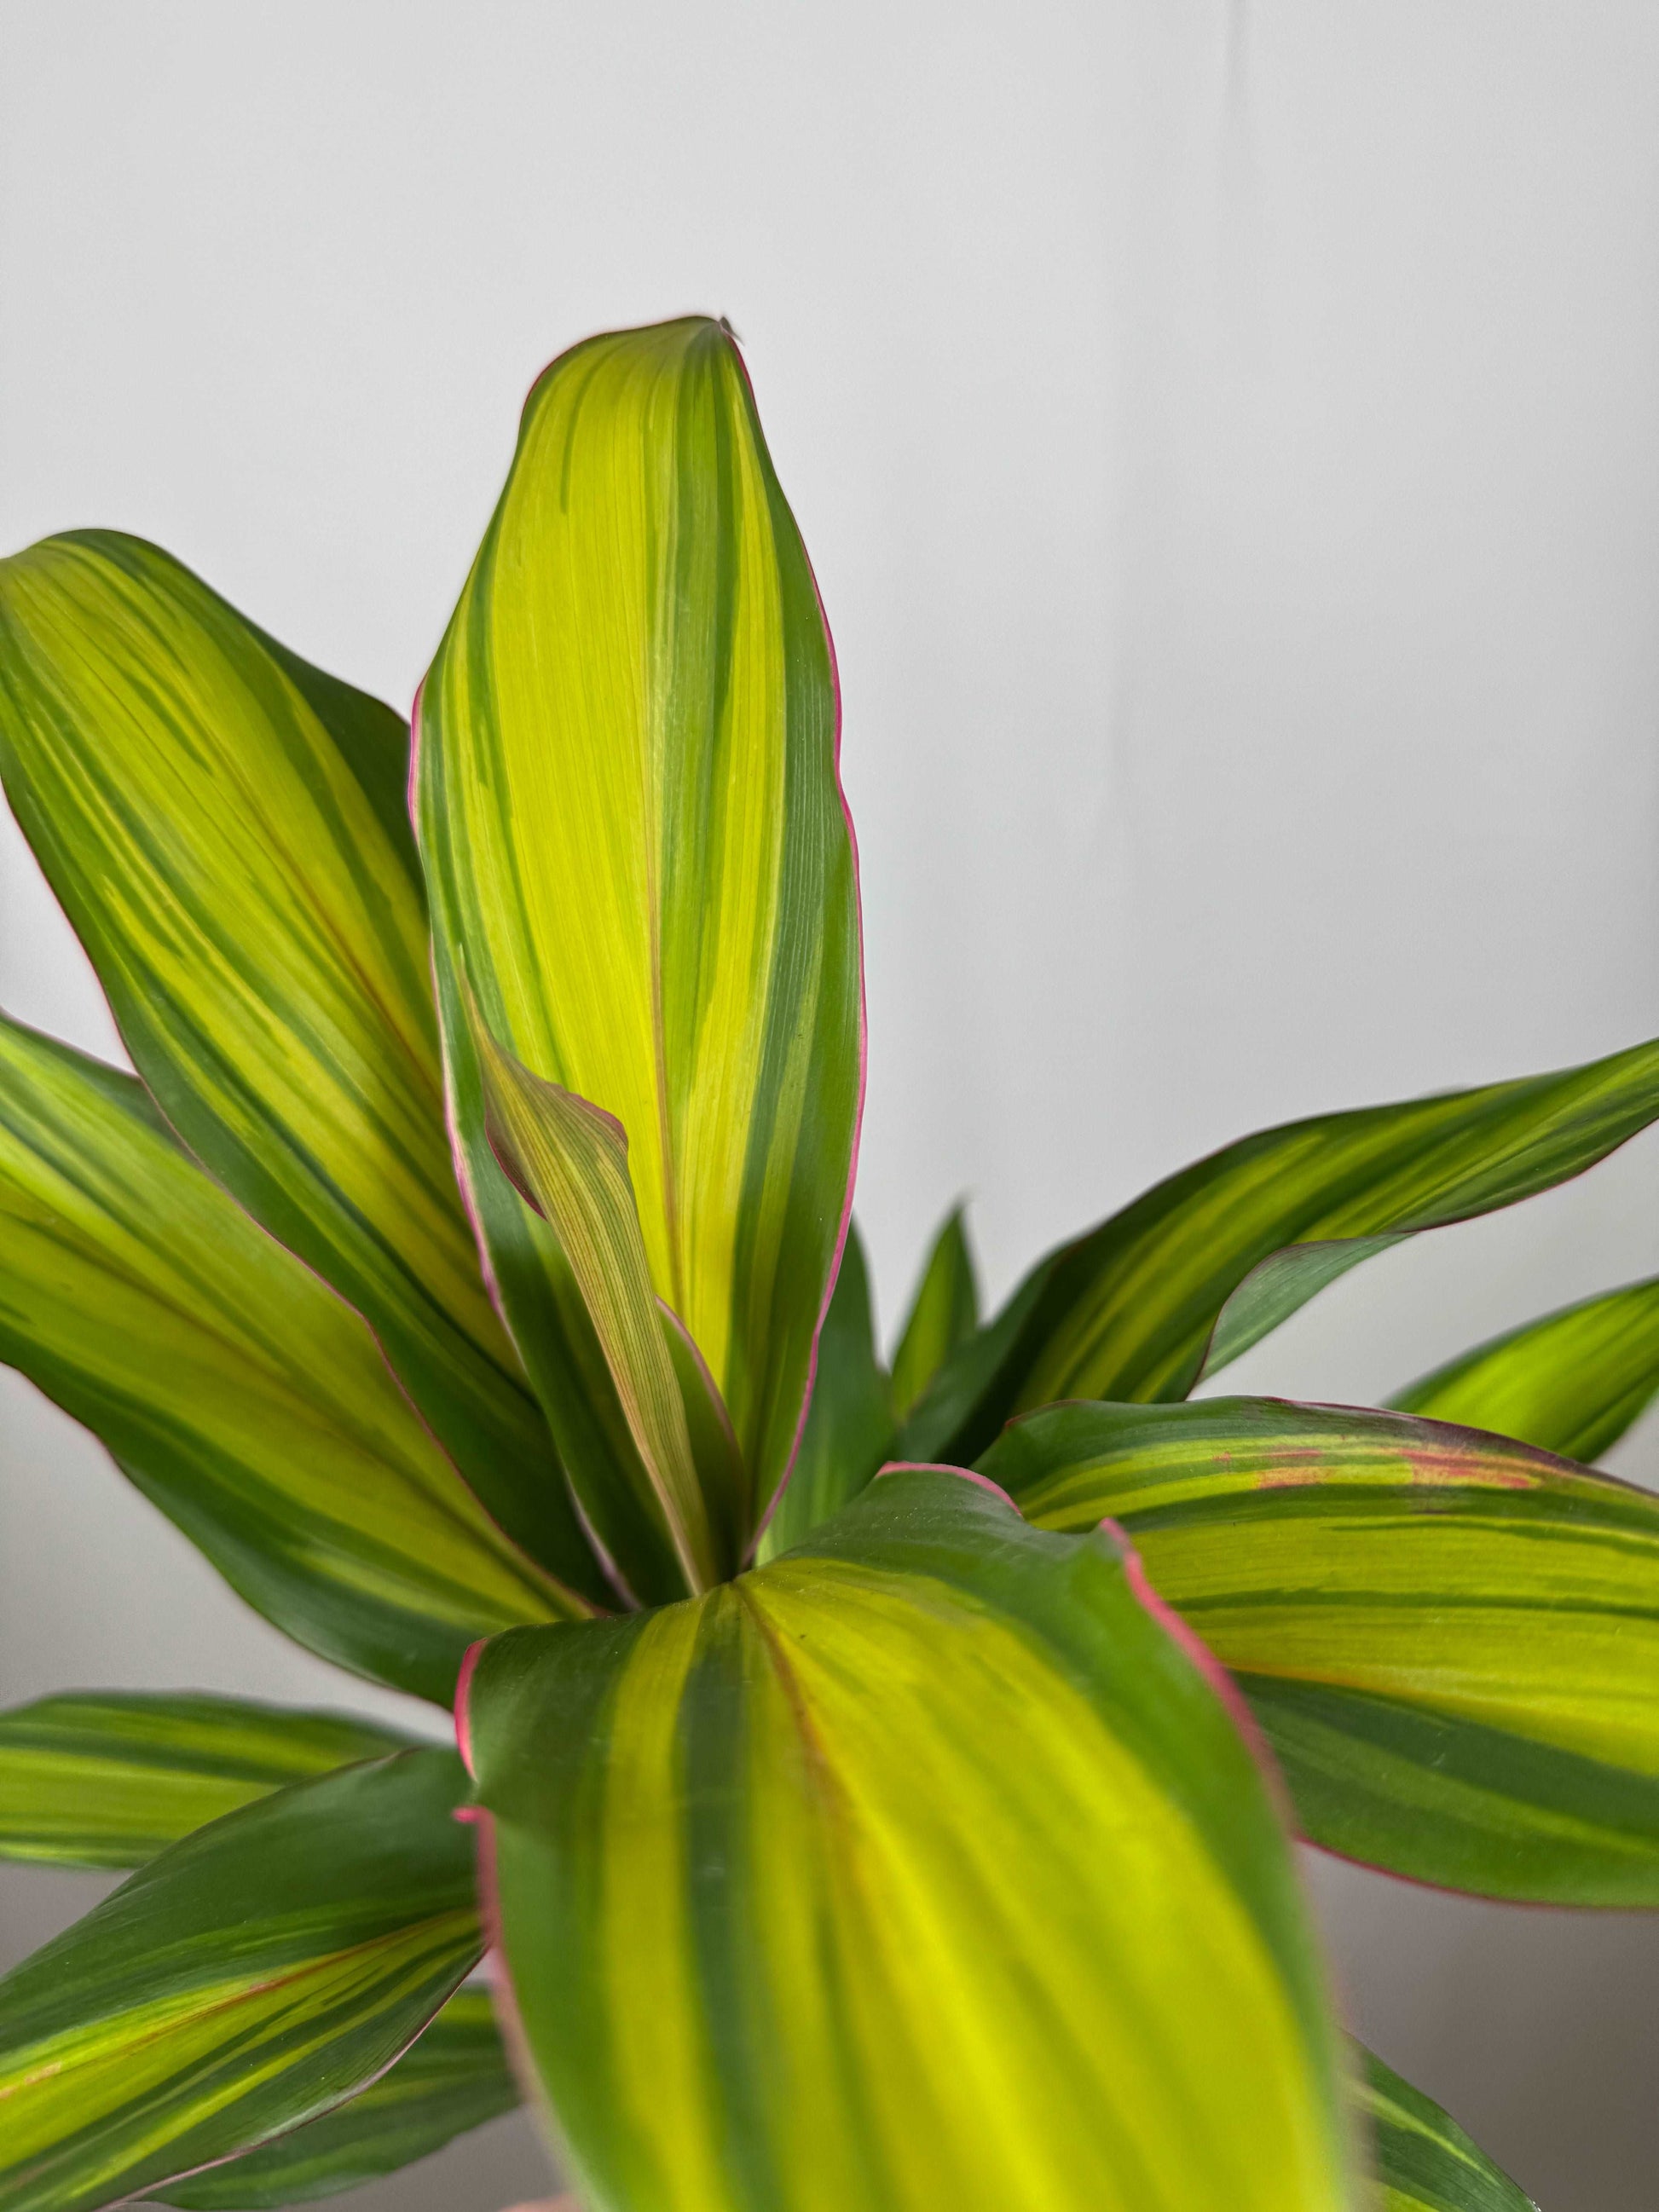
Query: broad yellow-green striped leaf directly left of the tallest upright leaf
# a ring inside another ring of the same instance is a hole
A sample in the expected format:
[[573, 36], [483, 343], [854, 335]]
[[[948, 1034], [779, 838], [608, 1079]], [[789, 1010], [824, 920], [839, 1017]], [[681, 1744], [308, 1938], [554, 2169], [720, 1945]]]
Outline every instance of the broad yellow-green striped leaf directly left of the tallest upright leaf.
[[113, 531], [0, 562], [0, 774], [164, 1115], [367, 1316], [489, 1511], [584, 1546], [442, 1119], [400, 719]]

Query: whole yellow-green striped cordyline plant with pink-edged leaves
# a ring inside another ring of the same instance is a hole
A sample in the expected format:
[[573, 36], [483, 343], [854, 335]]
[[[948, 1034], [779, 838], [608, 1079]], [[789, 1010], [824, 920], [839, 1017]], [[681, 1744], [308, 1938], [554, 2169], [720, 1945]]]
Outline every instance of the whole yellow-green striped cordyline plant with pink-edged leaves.
[[137, 1068], [0, 1031], [0, 1356], [460, 1739], [0, 1719], [0, 1847], [137, 1869], [0, 1982], [7, 2212], [296, 2203], [518, 2095], [604, 2212], [1524, 2205], [1340, 2035], [1292, 1836], [1659, 1905], [1659, 1502], [1579, 1464], [1659, 1283], [1387, 1411], [1190, 1391], [1659, 1119], [1659, 1044], [1245, 1137], [989, 1321], [951, 1219], [889, 1371], [836, 748], [712, 321], [535, 385], [414, 741], [133, 538], [0, 568]]

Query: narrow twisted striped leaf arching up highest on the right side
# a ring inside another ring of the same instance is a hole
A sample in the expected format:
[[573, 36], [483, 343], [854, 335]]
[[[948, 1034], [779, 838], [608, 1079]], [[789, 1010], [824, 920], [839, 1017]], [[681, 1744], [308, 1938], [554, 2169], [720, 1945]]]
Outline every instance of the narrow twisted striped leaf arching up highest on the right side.
[[1186, 1398], [1358, 1261], [1579, 1175], [1659, 1117], [1659, 1042], [1559, 1075], [1287, 1121], [1040, 1261], [905, 1431], [973, 1458], [1060, 1398]]

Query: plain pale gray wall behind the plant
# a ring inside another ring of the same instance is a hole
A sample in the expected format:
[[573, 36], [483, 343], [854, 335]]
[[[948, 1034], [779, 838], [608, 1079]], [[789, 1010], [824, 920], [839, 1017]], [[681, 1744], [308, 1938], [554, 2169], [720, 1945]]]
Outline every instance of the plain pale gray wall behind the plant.
[[[538, 367], [730, 314], [845, 677], [891, 1323], [960, 1192], [1000, 1292], [1243, 1128], [1659, 1029], [1657, 243], [1644, 0], [0, 0], [0, 544], [142, 531], [407, 703]], [[0, 1000], [115, 1051], [9, 823]], [[1657, 1199], [1637, 1141], [1230, 1380], [1374, 1398], [1652, 1272]], [[0, 1462], [7, 1701], [338, 1694], [11, 1376]], [[1314, 1885], [1548, 2212], [1655, 2201], [1655, 1922]], [[504, 2124], [363, 2205], [542, 2185]]]

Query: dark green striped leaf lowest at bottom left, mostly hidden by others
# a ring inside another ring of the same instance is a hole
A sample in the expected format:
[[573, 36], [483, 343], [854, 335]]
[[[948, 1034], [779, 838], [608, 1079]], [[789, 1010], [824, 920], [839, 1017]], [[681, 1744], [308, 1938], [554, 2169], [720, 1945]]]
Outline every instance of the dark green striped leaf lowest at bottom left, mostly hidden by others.
[[206, 2174], [170, 2181], [157, 2201], [188, 2212], [265, 2212], [314, 2203], [442, 2150], [456, 2135], [511, 2112], [518, 2086], [489, 1993], [458, 1989], [392, 2073], [312, 2119]]

